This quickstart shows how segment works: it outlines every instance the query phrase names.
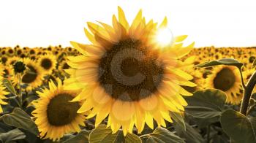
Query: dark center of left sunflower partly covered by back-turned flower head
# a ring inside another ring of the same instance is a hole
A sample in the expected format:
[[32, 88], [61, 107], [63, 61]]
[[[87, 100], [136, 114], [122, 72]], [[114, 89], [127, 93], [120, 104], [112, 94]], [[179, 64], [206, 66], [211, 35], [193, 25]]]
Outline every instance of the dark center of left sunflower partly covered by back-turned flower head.
[[37, 70], [31, 65], [27, 65], [26, 67], [29, 68], [29, 72], [26, 72], [26, 74], [23, 75], [21, 81], [23, 83], [34, 82], [34, 80], [37, 79]]

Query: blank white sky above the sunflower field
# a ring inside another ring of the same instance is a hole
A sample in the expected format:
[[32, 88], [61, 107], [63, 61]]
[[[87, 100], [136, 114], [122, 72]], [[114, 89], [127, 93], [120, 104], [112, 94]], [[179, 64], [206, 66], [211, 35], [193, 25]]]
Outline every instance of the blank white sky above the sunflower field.
[[173, 34], [189, 35], [195, 47], [256, 46], [253, 0], [0, 0], [0, 47], [87, 43], [86, 22], [110, 23], [118, 6], [129, 23], [140, 8], [146, 20], [166, 15]]

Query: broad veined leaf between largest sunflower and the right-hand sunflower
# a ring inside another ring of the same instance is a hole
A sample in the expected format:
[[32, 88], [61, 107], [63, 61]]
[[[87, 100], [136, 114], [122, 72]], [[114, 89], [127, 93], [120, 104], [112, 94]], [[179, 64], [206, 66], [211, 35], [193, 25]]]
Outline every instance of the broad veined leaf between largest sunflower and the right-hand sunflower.
[[222, 114], [226, 95], [222, 90], [197, 90], [193, 96], [185, 97], [187, 114], [197, 118], [212, 118]]

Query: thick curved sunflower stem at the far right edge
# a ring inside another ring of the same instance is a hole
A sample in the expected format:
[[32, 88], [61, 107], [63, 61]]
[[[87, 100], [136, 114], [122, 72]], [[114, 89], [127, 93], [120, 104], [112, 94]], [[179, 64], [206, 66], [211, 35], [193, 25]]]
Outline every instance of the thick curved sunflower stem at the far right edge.
[[249, 106], [249, 99], [252, 95], [252, 90], [255, 87], [256, 84], [256, 71], [252, 74], [252, 77], [250, 77], [249, 82], [247, 83], [246, 88], [244, 88], [244, 96], [240, 108], [240, 113], [243, 115], [246, 115], [247, 109]]

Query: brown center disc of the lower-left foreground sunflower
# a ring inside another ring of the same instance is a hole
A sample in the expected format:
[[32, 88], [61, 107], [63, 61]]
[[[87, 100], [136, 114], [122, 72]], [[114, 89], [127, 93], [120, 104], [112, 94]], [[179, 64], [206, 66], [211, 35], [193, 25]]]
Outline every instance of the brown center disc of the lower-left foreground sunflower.
[[70, 102], [73, 98], [69, 93], [59, 93], [59, 95], [50, 99], [47, 107], [47, 117], [50, 125], [67, 125], [75, 120], [80, 104]]

